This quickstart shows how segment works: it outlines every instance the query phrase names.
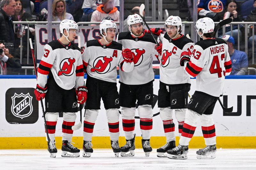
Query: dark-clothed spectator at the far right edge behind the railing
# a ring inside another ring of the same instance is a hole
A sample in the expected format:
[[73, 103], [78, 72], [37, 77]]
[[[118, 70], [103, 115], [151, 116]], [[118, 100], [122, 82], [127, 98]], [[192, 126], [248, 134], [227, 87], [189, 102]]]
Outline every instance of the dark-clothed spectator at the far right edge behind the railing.
[[[254, 7], [254, 10], [252, 10], [251, 14], [246, 17], [245, 22], [256, 22], [256, 0], [254, 0], [253, 7]], [[252, 38], [252, 31], [253, 30], [251, 27], [251, 31], [248, 34], [250, 36], [250, 38], [248, 40], [248, 48], [252, 48], [252, 40], [253, 39], [254, 39], [254, 48], [256, 46], [256, 25], [254, 25], [254, 38]]]

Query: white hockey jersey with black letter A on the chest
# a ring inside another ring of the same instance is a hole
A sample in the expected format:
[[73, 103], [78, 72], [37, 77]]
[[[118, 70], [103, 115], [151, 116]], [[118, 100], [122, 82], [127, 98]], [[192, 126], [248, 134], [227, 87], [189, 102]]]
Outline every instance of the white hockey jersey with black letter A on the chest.
[[122, 49], [122, 44], [116, 41], [112, 41], [109, 45], [101, 45], [99, 40], [87, 41], [82, 50], [87, 75], [116, 83], [116, 66], [120, 65], [120, 72], [122, 72], [123, 64], [127, 64], [124, 63]]

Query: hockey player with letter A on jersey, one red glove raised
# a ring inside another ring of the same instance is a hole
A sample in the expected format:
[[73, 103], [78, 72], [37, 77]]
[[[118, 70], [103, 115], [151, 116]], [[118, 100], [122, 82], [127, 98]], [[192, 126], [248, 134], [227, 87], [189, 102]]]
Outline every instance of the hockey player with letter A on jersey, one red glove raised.
[[117, 71], [130, 72], [133, 69], [133, 56], [130, 49], [123, 49], [122, 44], [113, 41], [116, 35], [116, 23], [103, 20], [100, 23], [100, 40], [90, 40], [84, 44], [82, 58], [87, 72], [86, 87], [88, 100], [85, 103], [83, 156], [90, 157], [92, 150], [92, 133], [103, 100], [108, 118], [110, 143], [118, 157], [121, 149], [119, 137], [119, 94], [116, 87]]

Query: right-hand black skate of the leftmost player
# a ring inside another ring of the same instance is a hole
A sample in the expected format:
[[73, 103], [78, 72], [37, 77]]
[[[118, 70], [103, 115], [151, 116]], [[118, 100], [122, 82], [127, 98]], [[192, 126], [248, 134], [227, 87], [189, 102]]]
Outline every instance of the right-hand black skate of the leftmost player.
[[79, 152], [80, 150], [74, 147], [70, 142], [67, 140], [62, 141], [62, 147], [61, 147], [61, 156], [62, 157], [70, 157], [70, 158], [77, 158], [80, 156]]

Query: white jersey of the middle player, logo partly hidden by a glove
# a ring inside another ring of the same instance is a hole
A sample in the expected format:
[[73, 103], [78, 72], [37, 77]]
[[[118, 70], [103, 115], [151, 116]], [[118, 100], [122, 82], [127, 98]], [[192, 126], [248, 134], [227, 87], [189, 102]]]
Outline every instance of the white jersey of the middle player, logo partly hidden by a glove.
[[142, 85], [154, 80], [152, 67], [153, 57], [158, 55], [156, 42], [149, 33], [141, 37], [133, 37], [130, 32], [119, 33], [117, 40], [124, 48], [132, 51], [134, 68], [131, 72], [120, 72], [121, 83], [127, 85]]

